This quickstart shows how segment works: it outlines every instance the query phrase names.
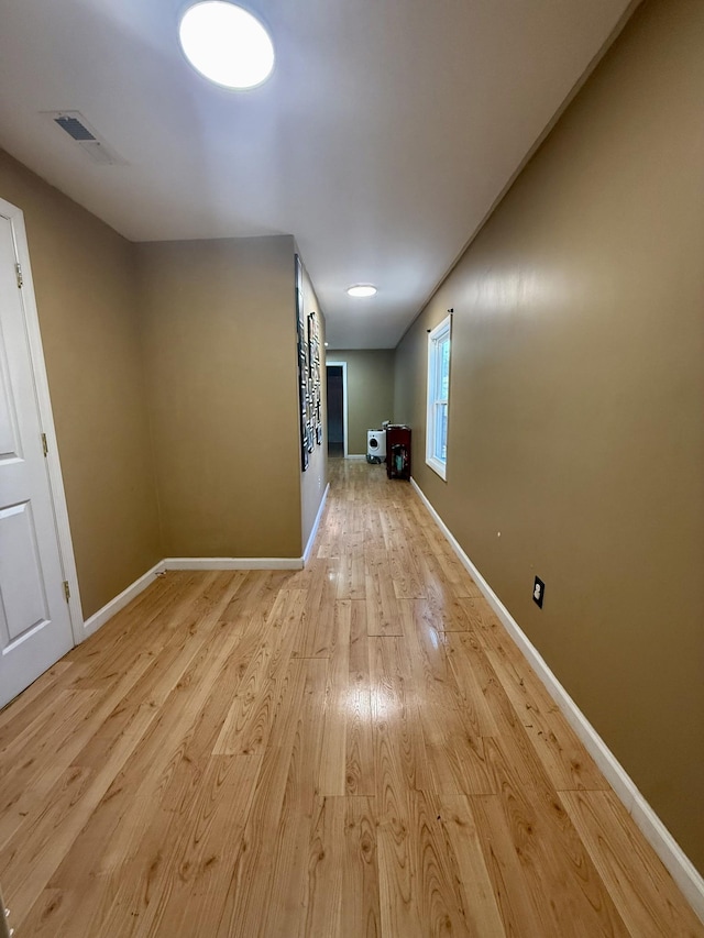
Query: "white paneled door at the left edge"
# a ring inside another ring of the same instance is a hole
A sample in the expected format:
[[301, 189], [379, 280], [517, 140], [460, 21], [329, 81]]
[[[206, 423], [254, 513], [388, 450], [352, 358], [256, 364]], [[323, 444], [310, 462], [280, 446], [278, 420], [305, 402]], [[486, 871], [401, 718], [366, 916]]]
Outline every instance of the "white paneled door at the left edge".
[[0, 213], [0, 706], [74, 644], [16, 234]]

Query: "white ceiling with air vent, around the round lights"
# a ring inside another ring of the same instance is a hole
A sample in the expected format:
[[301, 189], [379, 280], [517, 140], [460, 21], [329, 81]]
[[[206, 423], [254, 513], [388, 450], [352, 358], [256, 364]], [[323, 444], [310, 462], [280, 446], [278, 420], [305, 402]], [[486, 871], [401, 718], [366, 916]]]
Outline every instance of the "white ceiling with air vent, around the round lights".
[[0, 0], [0, 145], [133, 241], [294, 234], [344, 349], [398, 342], [629, 0], [253, 0], [277, 60], [246, 92], [186, 64], [187, 5]]

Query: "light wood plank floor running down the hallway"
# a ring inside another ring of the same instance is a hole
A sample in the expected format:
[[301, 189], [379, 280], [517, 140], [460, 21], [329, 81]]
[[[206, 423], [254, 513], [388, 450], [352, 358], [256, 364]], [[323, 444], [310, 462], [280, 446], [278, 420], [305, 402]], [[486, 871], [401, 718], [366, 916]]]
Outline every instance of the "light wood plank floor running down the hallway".
[[168, 573], [0, 713], [16, 938], [704, 936], [404, 482]]

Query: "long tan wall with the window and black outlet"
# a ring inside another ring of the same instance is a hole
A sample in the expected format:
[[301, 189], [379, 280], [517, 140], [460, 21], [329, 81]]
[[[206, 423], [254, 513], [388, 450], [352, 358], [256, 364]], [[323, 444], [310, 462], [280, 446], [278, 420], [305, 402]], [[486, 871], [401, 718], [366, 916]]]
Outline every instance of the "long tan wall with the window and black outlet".
[[[702, 49], [703, 3], [637, 11], [403, 340], [395, 416], [421, 488], [704, 872]], [[418, 431], [449, 307], [446, 484]]]

